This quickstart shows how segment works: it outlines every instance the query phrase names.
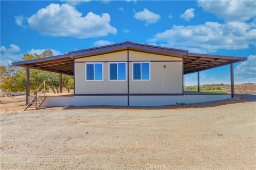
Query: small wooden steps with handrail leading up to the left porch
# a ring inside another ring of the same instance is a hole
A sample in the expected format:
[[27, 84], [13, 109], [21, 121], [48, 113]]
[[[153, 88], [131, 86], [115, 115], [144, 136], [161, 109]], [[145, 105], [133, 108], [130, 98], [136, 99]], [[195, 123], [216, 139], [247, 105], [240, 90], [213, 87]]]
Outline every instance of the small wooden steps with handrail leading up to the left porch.
[[[41, 87], [43, 87], [43, 89], [39, 92], [39, 89], [41, 89]], [[42, 93], [43, 96], [41, 95]], [[26, 109], [28, 108], [35, 108], [36, 111], [42, 105], [45, 98], [47, 97], [45, 96], [45, 81], [36, 89], [34, 95], [35, 96], [33, 97], [33, 99], [29, 101], [28, 105], [23, 109], [23, 111], [26, 111]]]

